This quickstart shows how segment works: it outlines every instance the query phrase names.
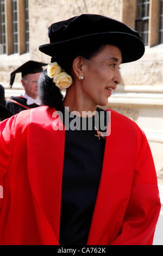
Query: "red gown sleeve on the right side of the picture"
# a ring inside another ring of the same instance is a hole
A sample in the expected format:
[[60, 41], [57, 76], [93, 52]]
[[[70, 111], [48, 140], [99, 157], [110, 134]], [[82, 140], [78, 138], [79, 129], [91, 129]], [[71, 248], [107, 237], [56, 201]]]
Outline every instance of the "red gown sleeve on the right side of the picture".
[[111, 245], [152, 245], [161, 208], [151, 149], [142, 130], [137, 132], [137, 160], [123, 224]]

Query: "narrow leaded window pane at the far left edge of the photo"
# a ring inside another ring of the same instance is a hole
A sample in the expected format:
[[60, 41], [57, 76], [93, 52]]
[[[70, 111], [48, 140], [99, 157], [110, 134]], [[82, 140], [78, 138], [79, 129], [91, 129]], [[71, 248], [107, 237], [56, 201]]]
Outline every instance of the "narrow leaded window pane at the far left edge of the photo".
[[4, 0], [0, 0], [0, 21], [1, 21], [1, 26], [0, 26], [0, 43], [2, 44], [2, 52], [0, 53], [5, 53], [6, 52], [6, 41], [5, 41], [5, 6], [4, 6]]

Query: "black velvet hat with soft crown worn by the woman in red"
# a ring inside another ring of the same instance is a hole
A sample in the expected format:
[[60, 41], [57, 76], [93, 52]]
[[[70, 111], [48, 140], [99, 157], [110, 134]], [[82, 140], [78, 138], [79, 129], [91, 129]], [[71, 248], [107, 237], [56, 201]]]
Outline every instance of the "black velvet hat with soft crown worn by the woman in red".
[[53, 23], [48, 28], [50, 44], [39, 50], [49, 56], [58, 51], [78, 50], [93, 44], [111, 44], [119, 47], [122, 62], [140, 59], [145, 52], [141, 36], [122, 22], [102, 15], [82, 14], [65, 21]]

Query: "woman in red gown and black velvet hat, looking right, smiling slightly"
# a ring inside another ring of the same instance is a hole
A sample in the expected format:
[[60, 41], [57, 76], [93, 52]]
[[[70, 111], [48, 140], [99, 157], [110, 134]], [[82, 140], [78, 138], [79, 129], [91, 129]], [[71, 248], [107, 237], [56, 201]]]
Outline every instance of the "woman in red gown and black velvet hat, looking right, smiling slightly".
[[52, 57], [40, 78], [46, 106], [1, 124], [1, 243], [152, 245], [160, 200], [147, 139], [127, 117], [97, 107], [143, 42], [91, 14], [54, 23], [49, 38], [40, 46]]

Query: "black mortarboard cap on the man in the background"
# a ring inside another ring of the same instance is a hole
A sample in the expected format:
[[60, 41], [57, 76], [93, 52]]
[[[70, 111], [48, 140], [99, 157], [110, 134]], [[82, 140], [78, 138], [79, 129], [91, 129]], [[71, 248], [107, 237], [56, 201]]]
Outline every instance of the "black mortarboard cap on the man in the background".
[[46, 65], [46, 63], [34, 62], [34, 60], [29, 60], [28, 62], [24, 63], [22, 66], [11, 73], [10, 87], [12, 87], [12, 84], [14, 83], [16, 73], [22, 73], [22, 77], [28, 74], [39, 73], [43, 71], [42, 66]]

